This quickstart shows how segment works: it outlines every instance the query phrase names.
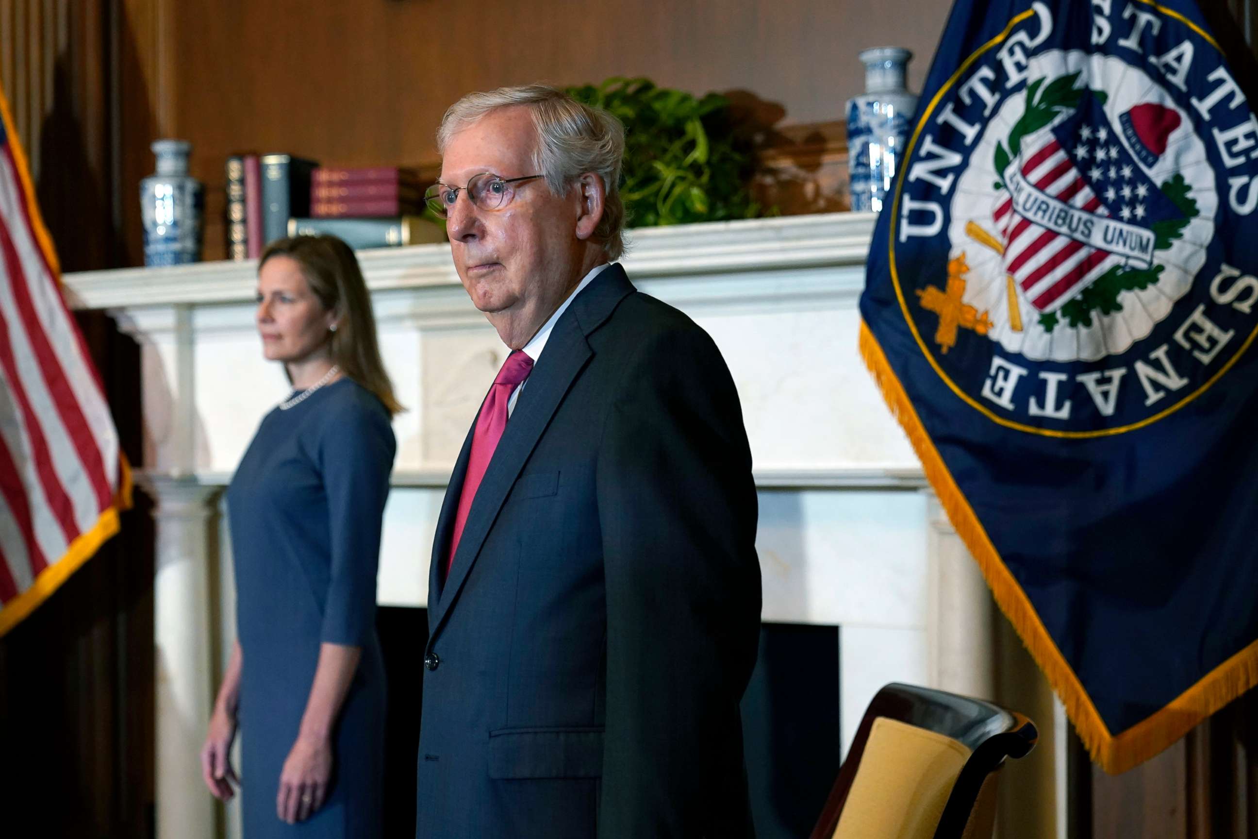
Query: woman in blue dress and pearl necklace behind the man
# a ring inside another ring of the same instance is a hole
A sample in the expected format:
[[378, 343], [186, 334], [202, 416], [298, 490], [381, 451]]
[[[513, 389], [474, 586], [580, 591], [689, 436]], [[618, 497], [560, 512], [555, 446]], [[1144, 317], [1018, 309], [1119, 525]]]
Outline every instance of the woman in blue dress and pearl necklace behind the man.
[[[401, 408], [353, 252], [272, 244], [258, 268], [263, 355], [293, 394], [263, 418], [228, 489], [237, 635], [201, 750], [210, 791], [243, 794], [245, 839], [381, 835], [385, 674], [376, 567]], [[243, 780], [229, 764], [242, 732]]]

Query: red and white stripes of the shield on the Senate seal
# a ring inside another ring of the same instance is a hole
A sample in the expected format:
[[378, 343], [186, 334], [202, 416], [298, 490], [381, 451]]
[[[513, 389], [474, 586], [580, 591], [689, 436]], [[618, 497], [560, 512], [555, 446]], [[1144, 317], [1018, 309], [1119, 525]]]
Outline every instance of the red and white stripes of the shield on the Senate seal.
[[[1071, 206], [1110, 215], [1057, 138], [1048, 132], [1044, 136], [1049, 142], [1028, 156], [1021, 166], [1027, 182]], [[1121, 262], [1108, 250], [1092, 248], [1021, 218], [1009, 196], [996, 206], [993, 218], [1005, 242], [1006, 273], [1013, 274], [1023, 296], [1040, 312], [1060, 308]]]

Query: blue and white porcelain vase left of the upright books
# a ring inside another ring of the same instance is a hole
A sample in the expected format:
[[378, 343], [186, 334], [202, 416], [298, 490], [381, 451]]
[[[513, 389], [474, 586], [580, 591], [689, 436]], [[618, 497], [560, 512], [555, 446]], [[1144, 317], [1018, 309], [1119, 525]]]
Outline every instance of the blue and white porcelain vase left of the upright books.
[[201, 259], [205, 190], [187, 174], [186, 140], [157, 140], [157, 171], [140, 181], [145, 224], [145, 264], [180, 265]]

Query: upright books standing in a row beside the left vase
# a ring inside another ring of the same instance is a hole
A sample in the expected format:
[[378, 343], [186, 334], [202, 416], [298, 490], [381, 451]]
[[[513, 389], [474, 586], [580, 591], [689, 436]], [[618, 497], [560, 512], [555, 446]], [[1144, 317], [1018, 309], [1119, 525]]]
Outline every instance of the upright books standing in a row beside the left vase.
[[288, 235], [288, 220], [309, 215], [313, 160], [293, 155], [228, 157], [228, 258], [257, 259]]

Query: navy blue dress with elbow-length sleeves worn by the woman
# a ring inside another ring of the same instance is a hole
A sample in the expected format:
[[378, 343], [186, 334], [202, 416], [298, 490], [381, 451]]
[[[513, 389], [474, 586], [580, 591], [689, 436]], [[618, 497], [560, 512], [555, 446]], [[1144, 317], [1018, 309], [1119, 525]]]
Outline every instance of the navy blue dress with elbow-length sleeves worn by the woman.
[[[380, 527], [396, 440], [341, 379], [262, 420], [228, 488], [243, 653], [244, 839], [381, 835], [385, 674], [376, 638]], [[362, 649], [333, 730], [332, 784], [306, 821], [276, 815], [322, 643]]]

